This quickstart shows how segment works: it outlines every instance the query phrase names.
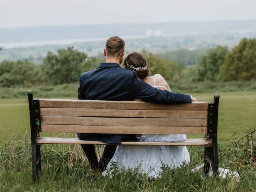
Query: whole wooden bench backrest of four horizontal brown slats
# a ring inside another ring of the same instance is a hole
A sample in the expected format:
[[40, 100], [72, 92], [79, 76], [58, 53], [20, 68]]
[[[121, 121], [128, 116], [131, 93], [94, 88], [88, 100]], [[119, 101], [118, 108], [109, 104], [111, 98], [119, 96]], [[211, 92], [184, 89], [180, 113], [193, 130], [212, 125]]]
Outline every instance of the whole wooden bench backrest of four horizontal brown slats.
[[214, 102], [32, 99], [39, 132], [208, 134]]

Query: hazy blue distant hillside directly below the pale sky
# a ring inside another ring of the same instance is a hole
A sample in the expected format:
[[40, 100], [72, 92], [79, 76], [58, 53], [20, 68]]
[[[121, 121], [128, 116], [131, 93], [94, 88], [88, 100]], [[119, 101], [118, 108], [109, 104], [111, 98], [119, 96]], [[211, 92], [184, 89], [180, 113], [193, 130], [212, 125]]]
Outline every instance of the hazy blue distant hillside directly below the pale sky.
[[256, 20], [0, 28], [0, 42], [67, 40], [114, 35], [140, 36], [150, 35], [150, 31], [157, 31], [161, 35], [221, 32], [243, 33], [256, 31]]

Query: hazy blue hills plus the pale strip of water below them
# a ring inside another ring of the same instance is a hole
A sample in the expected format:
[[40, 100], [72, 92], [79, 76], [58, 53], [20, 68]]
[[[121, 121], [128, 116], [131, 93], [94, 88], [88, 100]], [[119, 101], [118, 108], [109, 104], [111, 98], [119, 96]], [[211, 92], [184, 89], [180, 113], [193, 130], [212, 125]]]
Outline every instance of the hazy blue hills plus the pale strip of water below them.
[[[199, 34], [208, 34], [208, 38], [214, 38], [214, 36], [210, 36], [211, 34], [221, 34], [224, 35], [223, 37], [229, 36], [233, 39], [237, 39], [238, 36], [255, 38], [256, 19], [0, 28], [0, 46], [10, 49], [99, 42], [105, 41], [109, 36], [120, 36], [126, 40], [132, 40], [149, 37], [195, 37]], [[210, 39], [205, 40], [211, 41]]]

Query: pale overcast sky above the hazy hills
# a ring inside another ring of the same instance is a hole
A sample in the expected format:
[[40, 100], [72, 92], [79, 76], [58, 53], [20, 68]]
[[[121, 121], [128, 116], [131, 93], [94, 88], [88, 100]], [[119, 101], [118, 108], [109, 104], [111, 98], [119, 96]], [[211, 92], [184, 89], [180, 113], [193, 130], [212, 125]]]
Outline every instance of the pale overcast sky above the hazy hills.
[[0, 0], [0, 28], [256, 19], [256, 0]]

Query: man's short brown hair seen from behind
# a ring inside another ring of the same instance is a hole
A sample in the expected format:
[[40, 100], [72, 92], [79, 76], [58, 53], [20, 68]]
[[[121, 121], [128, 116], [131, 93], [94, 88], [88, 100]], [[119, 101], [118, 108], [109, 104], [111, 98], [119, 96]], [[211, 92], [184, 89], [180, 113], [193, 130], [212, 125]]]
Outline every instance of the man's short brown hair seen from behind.
[[110, 37], [106, 41], [106, 54], [108, 56], [119, 56], [124, 51], [124, 40], [118, 36]]

